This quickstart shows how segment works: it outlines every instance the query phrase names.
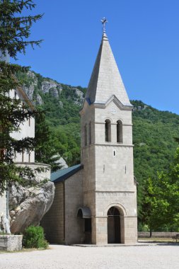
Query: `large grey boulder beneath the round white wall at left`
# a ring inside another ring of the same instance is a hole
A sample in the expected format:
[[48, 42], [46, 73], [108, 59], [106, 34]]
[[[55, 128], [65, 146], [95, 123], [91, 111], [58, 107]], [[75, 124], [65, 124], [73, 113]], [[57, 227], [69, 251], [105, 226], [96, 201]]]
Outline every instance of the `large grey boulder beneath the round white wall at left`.
[[[34, 168], [34, 167], [33, 167]], [[50, 171], [49, 171], [50, 173]], [[45, 173], [37, 173], [33, 185], [12, 187], [9, 193], [11, 233], [23, 232], [40, 220], [50, 209], [54, 199], [54, 183], [45, 180]]]

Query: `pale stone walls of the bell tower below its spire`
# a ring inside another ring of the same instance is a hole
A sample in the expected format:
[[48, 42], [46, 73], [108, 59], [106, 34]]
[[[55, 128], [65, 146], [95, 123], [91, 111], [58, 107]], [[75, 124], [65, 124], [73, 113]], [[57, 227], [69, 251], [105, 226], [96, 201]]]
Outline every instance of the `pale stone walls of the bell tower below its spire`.
[[[105, 120], [110, 120], [110, 141], [105, 141]], [[122, 142], [117, 142], [117, 120]], [[90, 128], [91, 122], [91, 144]], [[84, 136], [87, 126], [87, 145]], [[111, 101], [105, 108], [86, 103], [81, 112], [81, 162], [84, 166], [84, 205], [92, 214], [93, 244], [107, 244], [110, 207], [121, 214], [121, 241], [137, 242], [137, 190], [134, 183], [132, 111]]]

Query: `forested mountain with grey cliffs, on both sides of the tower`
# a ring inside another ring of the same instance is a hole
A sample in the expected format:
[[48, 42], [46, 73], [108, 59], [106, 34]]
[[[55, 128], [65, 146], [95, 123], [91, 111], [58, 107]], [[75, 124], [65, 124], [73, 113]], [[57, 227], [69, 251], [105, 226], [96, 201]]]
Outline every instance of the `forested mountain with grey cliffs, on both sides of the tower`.
[[[29, 71], [18, 74], [23, 79], [24, 90], [36, 105], [46, 112], [46, 122], [54, 137], [54, 147], [69, 166], [80, 162], [80, 117], [86, 88], [59, 84], [52, 79]], [[144, 181], [156, 178], [157, 171], [167, 171], [179, 137], [179, 115], [159, 111], [142, 101], [131, 101], [134, 105], [133, 142], [134, 174], [139, 183], [139, 217], [145, 195]]]

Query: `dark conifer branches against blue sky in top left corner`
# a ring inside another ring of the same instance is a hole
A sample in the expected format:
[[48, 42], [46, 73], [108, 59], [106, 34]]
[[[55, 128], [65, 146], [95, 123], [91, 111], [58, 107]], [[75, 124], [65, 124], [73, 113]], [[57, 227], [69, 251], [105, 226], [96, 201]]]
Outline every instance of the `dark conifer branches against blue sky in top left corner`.
[[1, 0], [0, 1], [0, 36], [1, 51], [8, 52], [10, 57], [16, 59], [17, 53], [25, 54], [28, 45], [40, 45], [42, 40], [28, 40], [30, 28], [39, 21], [42, 15], [21, 16], [24, 10], [32, 10], [35, 4], [32, 0]]

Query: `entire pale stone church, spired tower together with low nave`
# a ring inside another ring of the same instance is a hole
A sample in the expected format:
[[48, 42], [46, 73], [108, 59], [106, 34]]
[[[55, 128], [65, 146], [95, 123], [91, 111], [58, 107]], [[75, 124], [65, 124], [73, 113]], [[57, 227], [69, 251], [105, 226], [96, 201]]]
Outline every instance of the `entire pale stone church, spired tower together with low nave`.
[[137, 182], [132, 105], [103, 30], [81, 115], [81, 164], [51, 174], [54, 202], [42, 219], [56, 244], [135, 244]]

